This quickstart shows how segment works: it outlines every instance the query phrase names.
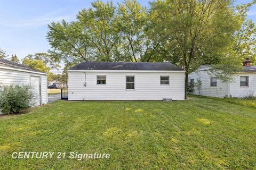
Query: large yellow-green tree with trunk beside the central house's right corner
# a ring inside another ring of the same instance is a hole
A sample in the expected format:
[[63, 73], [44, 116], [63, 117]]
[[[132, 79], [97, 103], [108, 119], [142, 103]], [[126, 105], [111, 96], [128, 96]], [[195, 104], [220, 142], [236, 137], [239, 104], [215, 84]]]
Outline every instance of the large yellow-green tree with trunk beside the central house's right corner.
[[[155, 29], [169, 47], [171, 59], [185, 70], [185, 98], [188, 74], [201, 64], [222, 60], [239, 29], [238, 15], [230, 1], [165, 0], [151, 3]], [[231, 63], [230, 63], [231, 64]]]

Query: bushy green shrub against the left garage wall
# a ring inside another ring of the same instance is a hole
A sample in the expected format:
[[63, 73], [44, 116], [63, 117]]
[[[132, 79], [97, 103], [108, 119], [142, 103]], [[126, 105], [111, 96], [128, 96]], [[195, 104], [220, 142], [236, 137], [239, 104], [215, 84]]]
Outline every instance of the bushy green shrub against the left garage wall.
[[1, 85], [0, 96], [0, 111], [3, 114], [19, 113], [34, 105], [35, 94], [29, 85]]

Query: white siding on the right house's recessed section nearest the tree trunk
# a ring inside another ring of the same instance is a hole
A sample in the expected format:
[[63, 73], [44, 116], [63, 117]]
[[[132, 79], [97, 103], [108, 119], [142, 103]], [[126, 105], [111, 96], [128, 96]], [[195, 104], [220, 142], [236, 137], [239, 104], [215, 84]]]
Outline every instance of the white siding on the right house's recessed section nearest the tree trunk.
[[[197, 78], [202, 81], [202, 88], [200, 94], [202, 96], [212, 96], [212, 97], [225, 97], [228, 96], [228, 82], [222, 82], [217, 79], [217, 87], [210, 86], [210, 78], [214, 75], [209, 75], [207, 71], [196, 71], [189, 74], [189, 82], [191, 79], [194, 79], [195, 83]], [[194, 87], [194, 92], [192, 94], [199, 95], [197, 87]]]

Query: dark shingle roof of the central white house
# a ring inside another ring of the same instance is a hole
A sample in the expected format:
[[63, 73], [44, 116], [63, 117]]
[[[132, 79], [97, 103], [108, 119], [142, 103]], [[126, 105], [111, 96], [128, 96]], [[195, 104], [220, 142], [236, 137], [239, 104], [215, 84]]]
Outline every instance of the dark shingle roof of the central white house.
[[182, 71], [171, 63], [143, 63], [143, 62], [82, 62], [69, 70], [158, 70]]

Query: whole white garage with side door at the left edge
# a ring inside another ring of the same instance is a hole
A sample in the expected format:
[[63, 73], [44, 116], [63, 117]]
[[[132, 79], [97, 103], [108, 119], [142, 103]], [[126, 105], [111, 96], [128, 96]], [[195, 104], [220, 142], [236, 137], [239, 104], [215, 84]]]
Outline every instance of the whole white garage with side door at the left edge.
[[30, 84], [36, 94], [35, 106], [47, 103], [47, 74], [0, 58], [1, 84]]

